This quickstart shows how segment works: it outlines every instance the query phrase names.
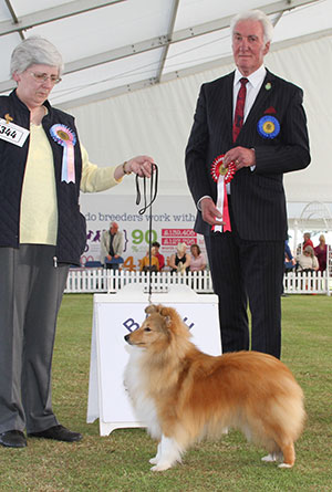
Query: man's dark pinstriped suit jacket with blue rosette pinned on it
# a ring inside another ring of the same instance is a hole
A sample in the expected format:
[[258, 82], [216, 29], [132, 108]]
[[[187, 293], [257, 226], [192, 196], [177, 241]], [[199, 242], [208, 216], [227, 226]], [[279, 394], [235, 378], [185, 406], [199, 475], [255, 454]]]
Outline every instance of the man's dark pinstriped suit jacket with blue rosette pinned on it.
[[[186, 171], [195, 203], [204, 196], [216, 202], [217, 185], [211, 177], [216, 157], [231, 147], [255, 148], [256, 169], [242, 168], [231, 184], [231, 205], [240, 237], [245, 240], [287, 239], [283, 172], [305, 168], [310, 163], [303, 92], [269, 71], [236, 144], [232, 143], [234, 75], [204, 84], [186, 148]], [[280, 124], [274, 138], [258, 130], [263, 116]], [[198, 211], [196, 232], [209, 234], [211, 227]]]

